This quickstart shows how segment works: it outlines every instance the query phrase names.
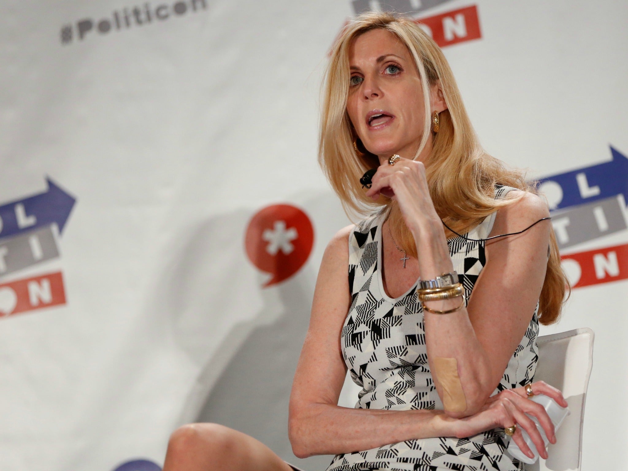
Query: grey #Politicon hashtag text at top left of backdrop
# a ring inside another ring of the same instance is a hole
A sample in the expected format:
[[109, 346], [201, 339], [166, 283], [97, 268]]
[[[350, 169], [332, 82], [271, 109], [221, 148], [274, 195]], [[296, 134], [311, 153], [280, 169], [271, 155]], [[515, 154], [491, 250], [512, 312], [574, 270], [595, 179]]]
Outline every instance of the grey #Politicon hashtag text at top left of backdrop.
[[67, 45], [75, 40], [84, 41], [90, 36], [107, 35], [111, 31], [162, 23], [169, 18], [206, 9], [207, 0], [179, 0], [172, 4], [144, 3], [141, 6], [128, 6], [114, 10], [104, 18], [83, 18], [76, 23], [65, 24], [61, 28], [61, 43]]

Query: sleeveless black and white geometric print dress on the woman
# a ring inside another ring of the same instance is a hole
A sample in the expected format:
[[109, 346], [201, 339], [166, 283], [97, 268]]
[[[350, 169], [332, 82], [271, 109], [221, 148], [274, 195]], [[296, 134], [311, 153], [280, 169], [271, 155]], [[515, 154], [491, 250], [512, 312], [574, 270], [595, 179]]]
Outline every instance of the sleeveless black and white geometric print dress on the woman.
[[[512, 187], [498, 186], [495, 198]], [[362, 390], [355, 408], [443, 409], [430, 373], [423, 310], [416, 284], [399, 298], [382, 288], [382, 233], [384, 213], [377, 212], [357, 224], [349, 236], [349, 287], [352, 304], [341, 333], [342, 355], [353, 381]], [[488, 237], [495, 212], [465, 236]], [[465, 305], [485, 264], [484, 242], [455, 237], [447, 241], [453, 269], [465, 288]], [[512, 353], [504, 376], [493, 394], [532, 381], [538, 347], [538, 303], [521, 342]], [[503, 429], [468, 438], [425, 438], [392, 443], [336, 455], [326, 471], [514, 471], [522, 464], [505, 453]]]

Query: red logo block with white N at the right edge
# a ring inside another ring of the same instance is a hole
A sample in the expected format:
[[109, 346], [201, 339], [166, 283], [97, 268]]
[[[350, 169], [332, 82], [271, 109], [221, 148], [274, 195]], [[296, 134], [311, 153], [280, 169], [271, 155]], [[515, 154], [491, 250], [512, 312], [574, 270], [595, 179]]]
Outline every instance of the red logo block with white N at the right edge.
[[573, 288], [628, 278], [628, 244], [561, 256]]

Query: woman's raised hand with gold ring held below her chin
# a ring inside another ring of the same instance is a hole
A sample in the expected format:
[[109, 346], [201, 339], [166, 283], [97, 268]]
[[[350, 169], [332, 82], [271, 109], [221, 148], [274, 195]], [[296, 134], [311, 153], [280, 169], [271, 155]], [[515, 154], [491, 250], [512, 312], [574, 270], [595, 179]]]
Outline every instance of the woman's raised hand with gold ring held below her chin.
[[430, 197], [423, 162], [401, 158], [394, 165], [380, 165], [371, 181], [371, 188], [365, 195], [376, 200], [381, 193], [396, 199], [406, 225], [413, 233], [425, 228], [426, 223], [442, 229]]

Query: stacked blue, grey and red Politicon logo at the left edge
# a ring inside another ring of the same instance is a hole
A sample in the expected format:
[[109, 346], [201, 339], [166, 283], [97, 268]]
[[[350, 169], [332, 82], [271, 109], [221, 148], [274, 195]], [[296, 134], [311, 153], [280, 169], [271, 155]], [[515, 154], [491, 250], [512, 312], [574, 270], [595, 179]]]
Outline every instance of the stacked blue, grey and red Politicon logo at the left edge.
[[[58, 239], [76, 199], [48, 190], [0, 205], [0, 279], [60, 256]], [[60, 271], [0, 283], [0, 317], [65, 304]]]

